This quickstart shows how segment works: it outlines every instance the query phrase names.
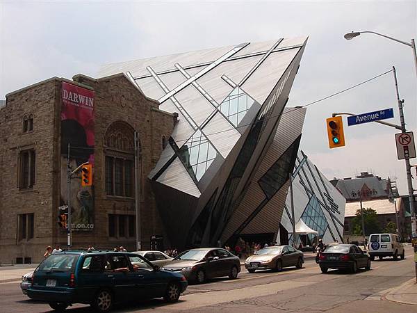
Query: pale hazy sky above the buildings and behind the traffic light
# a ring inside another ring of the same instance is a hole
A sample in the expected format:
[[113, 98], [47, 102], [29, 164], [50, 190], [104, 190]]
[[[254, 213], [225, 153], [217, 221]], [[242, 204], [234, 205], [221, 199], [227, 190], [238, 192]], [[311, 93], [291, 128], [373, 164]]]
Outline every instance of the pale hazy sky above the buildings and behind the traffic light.
[[[0, 99], [50, 77], [97, 77], [106, 63], [308, 35], [288, 106], [300, 106], [366, 81], [395, 66], [407, 130], [417, 137], [417, 77], [412, 49], [417, 1], [6, 1], [0, 0]], [[325, 119], [334, 112], [394, 109], [393, 74], [308, 107], [301, 148], [327, 176], [360, 172], [397, 181], [407, 193], [398, 130], [368, 123], [347, 127], [345, 147], [330, 150]], [[416, 138], [417, 141], [417, 138]], [[417, 164], [417, 159], [411, 159]], [[414, 188], [417, 175], [414, 173]]]

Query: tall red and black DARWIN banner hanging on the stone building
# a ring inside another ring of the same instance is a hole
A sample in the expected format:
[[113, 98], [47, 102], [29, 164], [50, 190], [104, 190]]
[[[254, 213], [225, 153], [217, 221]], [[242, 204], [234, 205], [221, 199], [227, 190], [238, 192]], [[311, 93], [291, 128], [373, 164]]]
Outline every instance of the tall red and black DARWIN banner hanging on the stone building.
[[[92, 90], [63, 82], [61, 108], [60, 205], [68, 202], [67, 157], [70, 143], [72, 170], [90, 162], [94, 175], [94, 100]], [[94, 177], [93, 177], [94, 184]], [[72, 230], [94, 228], [94, 186], [81, 186], [81, 178], [71, 179]]]

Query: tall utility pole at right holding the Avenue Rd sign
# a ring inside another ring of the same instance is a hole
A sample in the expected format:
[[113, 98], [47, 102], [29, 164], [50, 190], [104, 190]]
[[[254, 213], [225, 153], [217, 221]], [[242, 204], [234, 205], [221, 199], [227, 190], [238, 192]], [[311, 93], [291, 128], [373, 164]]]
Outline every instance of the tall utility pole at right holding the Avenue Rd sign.
[[[414, 40], [413, 40], [414, 44]], [[415, 50], [414, 50], [415, 51]], [[416, 70], [417, 70], [417, 61], [416, 61]], [[404, 112], [402, 111], [402, 104], [404, 104], [404, 100], [400, 100], [400, 93], [398, 92], [398, 83], [397, 83], [397, 74], [395, 72], [395, 67], [393, 67], [393, 74], [395, 80], [395, 92], [397, 93], [397, 101], [398, 101], [398, 110], [400, 111], [400, 122], [401, 122], [401, 132], [405, 133], [405, 122], [404, 122]], [[409, 191], [409, 204], [410, 204], [410, 212], [411, 212], [411, 238], [417, 239], [417, 225], [416, 225], [416, 205], [414, 202], [414, 188], [413, 182], [411, 180], [411, 166], [410, 166], [410, 159], [406, 157], [405, 161], [405, 170], [407, 172], [407, 185]], [[414, 243], [414, 255], [417, 253], [417, 244]], [[417, 282], [417, 262], [414, 262], [414, 267], [416, 268], [416, 282]]]

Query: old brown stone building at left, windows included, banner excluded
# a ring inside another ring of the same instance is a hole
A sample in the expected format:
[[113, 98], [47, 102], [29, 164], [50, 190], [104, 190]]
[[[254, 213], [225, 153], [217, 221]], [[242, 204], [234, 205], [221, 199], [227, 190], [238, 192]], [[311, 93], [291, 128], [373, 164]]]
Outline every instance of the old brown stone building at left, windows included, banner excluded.
[[[125, 74], [100, 79], [79, 74], [73, 81], [53, 77], [9, 93], [0, 109], [1, 263], [39, 262], [46, 246], [66, 246], [66, 230], [57, 223], [58, 207], [65, 204], [61, 190], [67, 187], [62, 153], [66, 147], [61, 147], [65, 84], [94, 94], [94, 106], [90, 103], [94, 127], [89, 130], [93, 134], [89, 149], [94, 150], [93, 196], [88, 202], [91, 227], [74, 230], [73, 246], [135, 249], [135, 131], [143, 248], [149, 248], [150, 236], [163, 234], [147, 175], [170, 137], [177, 114], [158, 109], [158, 102], [145, 97]], [[79, 177], [72, 179], [74, 185], [81, 185]], [[83, 202], [83, 191], [73, 197]]]

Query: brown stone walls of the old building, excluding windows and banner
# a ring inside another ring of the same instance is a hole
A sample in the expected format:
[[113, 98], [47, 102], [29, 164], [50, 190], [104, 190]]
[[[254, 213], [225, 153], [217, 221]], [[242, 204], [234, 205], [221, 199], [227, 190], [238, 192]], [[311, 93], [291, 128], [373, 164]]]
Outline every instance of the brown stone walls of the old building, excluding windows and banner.
[[[92, 79], [81, 74], [74, 81], [54, 77], [6, 95], [0, 110], [0, 262], [40, 262], [46, 246], [66, 246], [66, 232], [58, 227], [60, 205], [60, 108], [62, 82], [95, 91], [95, 210], [94, 230], [73, 232], [73, 246], [124, 246], [135, 249], [134, 236], [110, 237], [109, 214], [135, 215], [132, 197], [107, 195], [105, 188], [104, 136], [113, 123], [138, 132], [140, 140], [140, 215], [142, 248], [149, 248], [153, 234], [164, 234], [161, 217], [147, 175], [169, 138], [177, 115], [158, 109], [124, 74]], [[24, 129], [24, 118], [33, 117], [33, 130]], [[22, 188], [19, 182], [22, 152], [35, 152], [35, 182]], [[24, 223], [19, 214], [33, 214]], [[18, 226], [20, 225], [20, 226]], [[22, 239], [21, 228], [26, 227]]]

